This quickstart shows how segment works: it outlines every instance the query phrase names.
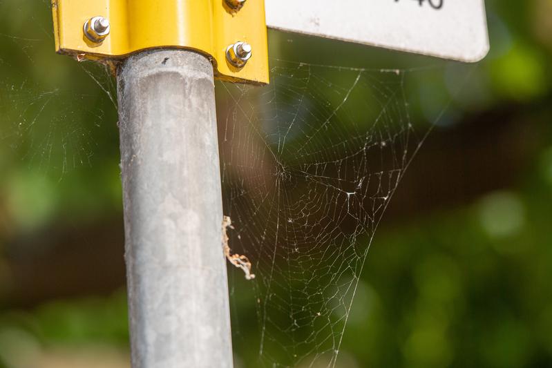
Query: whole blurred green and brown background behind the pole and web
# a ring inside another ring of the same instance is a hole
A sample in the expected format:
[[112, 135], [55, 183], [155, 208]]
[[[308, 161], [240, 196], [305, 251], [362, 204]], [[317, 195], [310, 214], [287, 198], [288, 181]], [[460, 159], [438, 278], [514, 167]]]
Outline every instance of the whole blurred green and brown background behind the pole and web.
[[[486, 6], [491, 52], [399, 184], [337, 367], [552, 367], [552, 1]], [[55, 55], [48, 1], [0, 0], [0, 14], [0, 367], [129, 367], [113, 79]], [[442, 64], [269, 39], [274, 59]], [[448, 95], [464, 75], [446, 65], [410, 88]], [[231, 277], [236, 367], [257, 367], [239, 288]]]

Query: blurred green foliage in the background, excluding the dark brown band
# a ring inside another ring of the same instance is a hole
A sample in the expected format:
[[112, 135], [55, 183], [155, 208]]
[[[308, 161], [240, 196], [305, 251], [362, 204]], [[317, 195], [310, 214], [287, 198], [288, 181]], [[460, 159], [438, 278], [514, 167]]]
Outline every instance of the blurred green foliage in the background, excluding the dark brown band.
[[[452, 98], [438, 122], [450, 126], [522, 104], [520, 124], [537, 136], [533, 164], [515, 173], [513, 185], [473, 202], [383, 222], [338, 367], [552, 366], [552, 5], [486, 2], [491, 53], [477, 68], [450, 64], [444, 76], [413, 81], [419, 100], [411, 101], [412, 110], [423, 122]], [[103, 68], [54, 54], [48, 4], [0, 0], [0, 250], [6, 254], [10, 240], [53, 224], [121, 214], [113, 79]], [[323, 64], [370, 68], [442, 64], [278, 32], [270, 39], [271, 55], [280, 59], [316, 63], [324, 55]], [[327, 52], [330, 43], [335, 48]], [[453, 93], [460, 83], [464, 88]], [[0, 291], [17, 287], [8, 269], [0, 260]], [[248, 323], [253, 291], [230, 276], [236, 366], [256, 367], [258, 351], [248, 343], [257, 333]], [[3, 299], [0, 367], [38, 367], [48, 352], [82, 347], [123, 351], [111, 362], [125, 365], [124, 291], [30, 309]]]

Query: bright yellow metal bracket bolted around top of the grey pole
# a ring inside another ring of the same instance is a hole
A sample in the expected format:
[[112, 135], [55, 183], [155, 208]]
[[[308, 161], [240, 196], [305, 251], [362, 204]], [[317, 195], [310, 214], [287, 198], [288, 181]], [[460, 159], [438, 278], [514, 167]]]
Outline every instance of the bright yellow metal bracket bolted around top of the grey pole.
[[[249, 0], [238, 10], [226, 0], [53, 0], [57, 52], [117, 61], [152, 48], [186, 48], [211, 57], [217, 79], [269, 81], [265, 1]], [[109, 35], [94, 42], [84, 25], [93, 17], [109, 21]], [[247, 64], [234, 66], [229, 46], [251, 45]]]

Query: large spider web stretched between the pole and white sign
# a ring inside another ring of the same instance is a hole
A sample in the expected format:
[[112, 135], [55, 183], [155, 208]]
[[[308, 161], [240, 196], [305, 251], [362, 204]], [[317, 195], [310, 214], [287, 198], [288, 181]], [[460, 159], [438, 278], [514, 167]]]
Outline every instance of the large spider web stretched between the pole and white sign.
[[256, 274], [258, 340], [238, 326], [234, 343], [258, 351], [251, 367], [334, 367], [374, 233], [430, 130], [410, 117], [419, 70], [271, 64], [269, 86], [218, 84], [229, 245]]

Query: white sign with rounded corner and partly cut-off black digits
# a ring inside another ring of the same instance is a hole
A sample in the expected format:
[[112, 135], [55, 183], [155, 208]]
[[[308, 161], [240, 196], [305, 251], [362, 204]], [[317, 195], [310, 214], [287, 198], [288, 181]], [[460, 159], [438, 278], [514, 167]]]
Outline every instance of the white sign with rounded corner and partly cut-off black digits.
[[460, 61], [488, 52], [484, 0], [265, 0], [267, 26]]

